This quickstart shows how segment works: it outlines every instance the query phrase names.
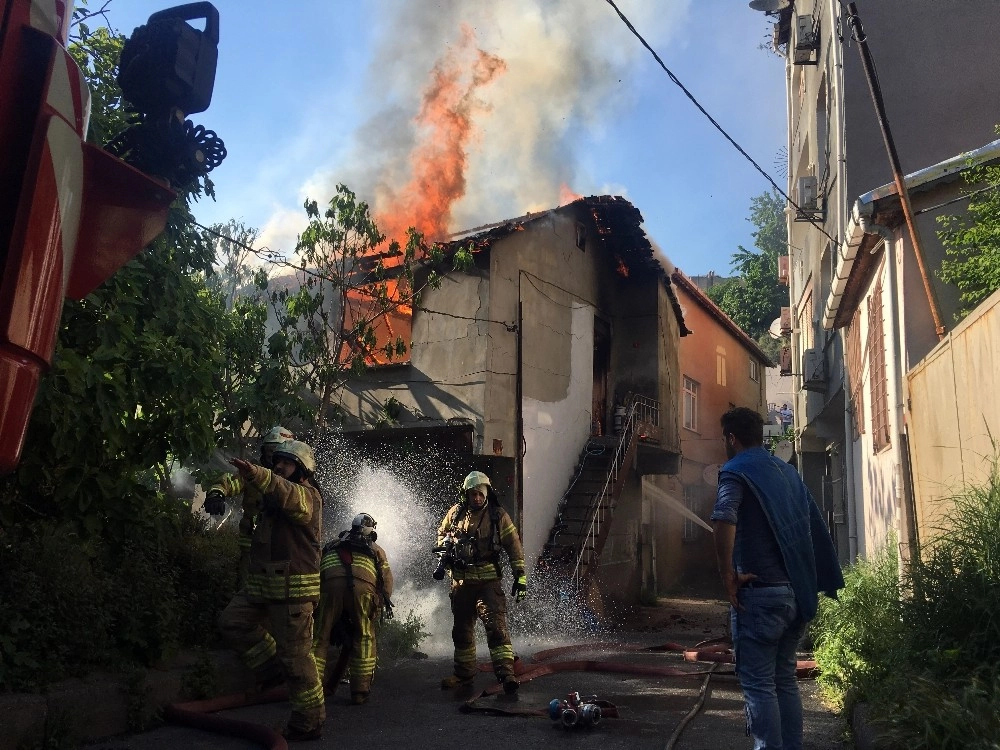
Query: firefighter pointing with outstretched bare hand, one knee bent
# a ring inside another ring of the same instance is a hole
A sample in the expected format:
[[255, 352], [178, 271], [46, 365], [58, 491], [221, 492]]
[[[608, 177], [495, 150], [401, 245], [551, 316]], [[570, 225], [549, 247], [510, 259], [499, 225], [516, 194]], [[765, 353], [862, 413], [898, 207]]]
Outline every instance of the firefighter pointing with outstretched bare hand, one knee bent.
[[246, 585], [219, 617], [229, 644], [253, 670], [258, 690], [288, 684], [290, 741], [322, 736], [323, 686], [312, 654], [313, 609], [319, 601], [323, 496], [313, 479], [312, 448], [288, 440], [268, 469], [239, 458], [235, 466], [261, 495]]

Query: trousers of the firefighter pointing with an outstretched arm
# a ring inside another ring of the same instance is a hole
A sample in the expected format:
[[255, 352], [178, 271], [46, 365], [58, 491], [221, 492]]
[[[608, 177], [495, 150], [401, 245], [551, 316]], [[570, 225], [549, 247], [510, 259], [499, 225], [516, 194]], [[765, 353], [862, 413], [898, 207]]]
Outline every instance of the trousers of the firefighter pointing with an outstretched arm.
[[276, 662], [288, 683], [290, 729], [323, 726], [323, 686], [312, 654], [313, 602], [250, 599], [237, 594], [219, 616], [219, 629], [229, 645], [253, 670], [258, 684], [271, 676]]

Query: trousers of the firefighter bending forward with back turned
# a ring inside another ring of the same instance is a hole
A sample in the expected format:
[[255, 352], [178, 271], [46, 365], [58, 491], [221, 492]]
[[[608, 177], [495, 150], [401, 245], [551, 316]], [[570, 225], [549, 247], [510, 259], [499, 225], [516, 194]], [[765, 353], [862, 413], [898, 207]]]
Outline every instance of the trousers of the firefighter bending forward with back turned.
[[[327, 651], [330, 634], [343, 617], [349, 628], [350, 648], [348, 665], [351, 672], [351, 693], [371, 690], [375, 675], [376, 642], [375, 621], [380, 602], [375, 587], [367, 581], [354, 579], [354, 587], [347, 585], [347, 577], [325, 578], [320, 592], [319, 610], [316, 614], [316, 631], [313, 638], [313, 656], [321, 681], [325, 682]], [[335, 687], [335, 686], [333, 686]]]

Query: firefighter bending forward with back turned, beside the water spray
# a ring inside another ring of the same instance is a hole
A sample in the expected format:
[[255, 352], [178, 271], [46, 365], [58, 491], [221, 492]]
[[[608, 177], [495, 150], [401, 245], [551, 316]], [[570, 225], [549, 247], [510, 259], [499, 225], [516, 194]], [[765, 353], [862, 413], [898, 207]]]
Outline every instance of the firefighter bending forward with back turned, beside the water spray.
[[[380, 617], [392, 617], [392, 569], [385, 550], [375, 544], [376, 522], [359, 513], [351, 528], [323, 548], [320, 601], [313, 653], [320, 679], [324, 677], [330, 635], [338, 623], [346, 631], [342, 648], [350, 649], [351, 703], [368, 701], [375, 674], [375, 627]], [[338, 628], [339, 629], [339, 628]]]

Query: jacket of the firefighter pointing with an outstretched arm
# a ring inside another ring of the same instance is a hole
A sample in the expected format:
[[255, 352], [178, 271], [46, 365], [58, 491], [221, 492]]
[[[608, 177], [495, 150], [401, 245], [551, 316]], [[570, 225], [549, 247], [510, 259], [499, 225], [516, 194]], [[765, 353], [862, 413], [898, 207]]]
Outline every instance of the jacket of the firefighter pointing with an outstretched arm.
[[247, 484], [261, 494], [260, 516], [250, 544], [245, 593], [270, 601], [319, 599], [323, 496], [311, 484], [283, 479], [251, 464]]

